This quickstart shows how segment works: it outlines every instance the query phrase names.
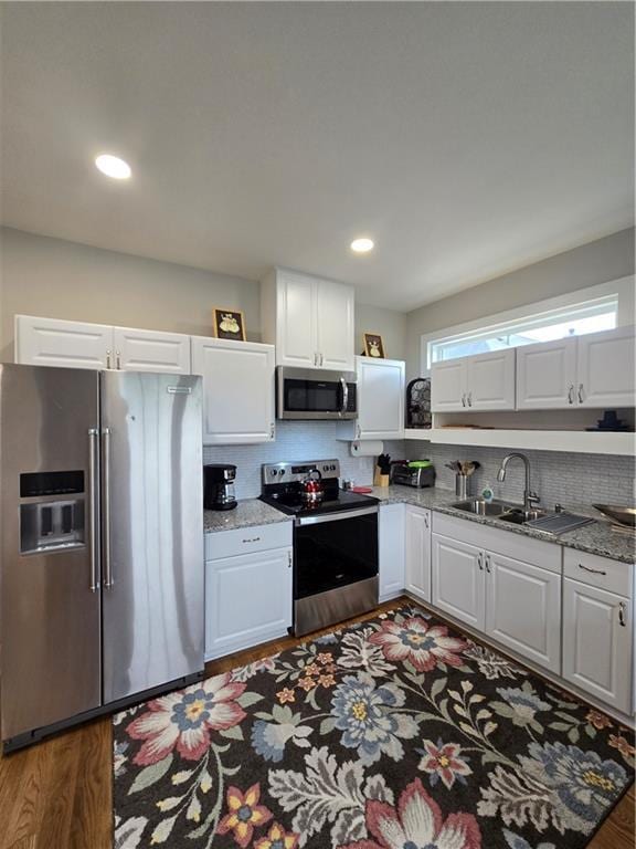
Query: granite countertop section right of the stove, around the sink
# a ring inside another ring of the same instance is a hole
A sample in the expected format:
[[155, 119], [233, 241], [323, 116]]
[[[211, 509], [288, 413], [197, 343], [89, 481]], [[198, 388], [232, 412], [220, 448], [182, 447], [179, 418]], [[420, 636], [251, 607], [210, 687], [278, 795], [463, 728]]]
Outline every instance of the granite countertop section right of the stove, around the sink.
[[[497, 527], [500, 531], [509, 531], [512, 534], [531, 536], [534, 539], [554, 543], [565, 548], [576, 548], [580, 552], [597, 554], [601, 557], [610, 557], [613, 560], [622, 560], [623, 563], [636, 562], [636, 536], [612, 531], [612, 525], [604, 520], [596, 520], [594, 524], [583, 525], [583, 527], [570, 531], [566, 534], [551, 536], [524, 525], [508, 525], [499, 522], [497, 518], [492, 518], [492, 516], [477, 516], [473, 513], [465, 513], [462, 510], [454, 510], [451, 504], [454, 504], [458, 499], [452, 490], [441, 490], [436, 486], [415, 490], [412, 486], [400, 485], [373, 486], [372, 489], [372, 494], [382, 504], [414, 504], [417, 507], [428, 507], [448, 516], [456, 516], [468, 522], [478, 522], [481, 525]], [[548, 505], [548, 509], [550, 509], [550, 505]], [[587, 504], [563, 504], [563, 510], [594, 518], [598, 515]]]

